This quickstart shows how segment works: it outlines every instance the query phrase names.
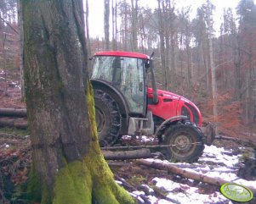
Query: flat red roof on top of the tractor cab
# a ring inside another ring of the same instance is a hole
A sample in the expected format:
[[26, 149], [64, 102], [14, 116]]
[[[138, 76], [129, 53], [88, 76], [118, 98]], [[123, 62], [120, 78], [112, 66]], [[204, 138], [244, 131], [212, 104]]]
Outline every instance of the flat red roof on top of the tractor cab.
[[124, 51], [102, 51], [102, 52], [96, 52], [94, 56], [120, 56], [120, 57], [128, 57], [128, 58], [145, 58], [145, 59], [150, 58], [146, 54], [142, 54], [138, 52], [124, 52]]

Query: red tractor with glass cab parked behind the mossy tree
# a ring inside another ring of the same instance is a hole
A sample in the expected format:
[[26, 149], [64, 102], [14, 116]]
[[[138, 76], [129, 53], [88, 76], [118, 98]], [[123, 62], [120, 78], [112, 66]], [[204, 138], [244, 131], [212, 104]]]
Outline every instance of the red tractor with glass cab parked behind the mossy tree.
[[155, 135], [168, 159], [196, 161], [204, 143], [212, 141], [202, 134], [202, 115], [185, 97], [157, 90], [153, 69], [153, 54], [94, 54], [91, 82], [100, 146], [112, 146], [122, 135]]

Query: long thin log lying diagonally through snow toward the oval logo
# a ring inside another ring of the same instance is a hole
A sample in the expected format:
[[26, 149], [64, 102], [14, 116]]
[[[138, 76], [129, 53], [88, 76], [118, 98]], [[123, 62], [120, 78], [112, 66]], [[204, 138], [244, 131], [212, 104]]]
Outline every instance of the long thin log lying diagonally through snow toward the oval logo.
[[[138, 163], [140, 165], [145, 165], [145, 166], [151, 167], [151, 168], [166, 170], [166, 171], [171, 172], [173, 174], [178, 174], [178, 175], [183, 176], [185, 178], [198, 180], [198, 181], [210, 184], [210, 185], [220, 186], [220, 185], [224, 185], [226, 183], [233, 183], [233, 182], [230, 182], [230, 180], [209, 177], [209, 176], [204, 175], [204, 174], [188, 171], [188, 170], [185, 170], [183, 168], [178, 168], [178, 167], [174, 166], [171, 163], [163, 163], [162, 161], [161, 162], [156, 162], [156, 161], [147, 161], [147, 160], [144, 160], [144, 159], [139, 159], [139, 160], [136, 161], [136, 163]], [[256, 193], [256, 188], [254, 186], [249, 186], [248, 188], [250, 190], [252, 190], [253, 193]]]

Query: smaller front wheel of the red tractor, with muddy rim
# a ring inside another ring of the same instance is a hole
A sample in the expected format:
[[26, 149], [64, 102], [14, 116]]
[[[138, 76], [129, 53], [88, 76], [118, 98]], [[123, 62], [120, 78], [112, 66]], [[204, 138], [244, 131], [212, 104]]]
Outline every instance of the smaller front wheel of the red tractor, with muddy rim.
[[[204, 150], [202, 132], [193, 124], [175, 124], [164, 132], [163, 154], [171, 162], [193, 163], [202, 156]], [[198, 144], [191, 144], [198, 143]]]

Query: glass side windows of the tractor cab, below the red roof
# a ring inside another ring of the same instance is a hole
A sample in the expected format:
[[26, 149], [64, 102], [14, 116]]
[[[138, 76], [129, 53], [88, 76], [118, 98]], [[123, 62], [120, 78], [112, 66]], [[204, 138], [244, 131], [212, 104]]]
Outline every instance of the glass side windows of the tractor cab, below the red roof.
[[106, 80], [125, 96], [130, 112], [144, 113], [144, 60], [116, 56], [95, 58], [93, 79]]

